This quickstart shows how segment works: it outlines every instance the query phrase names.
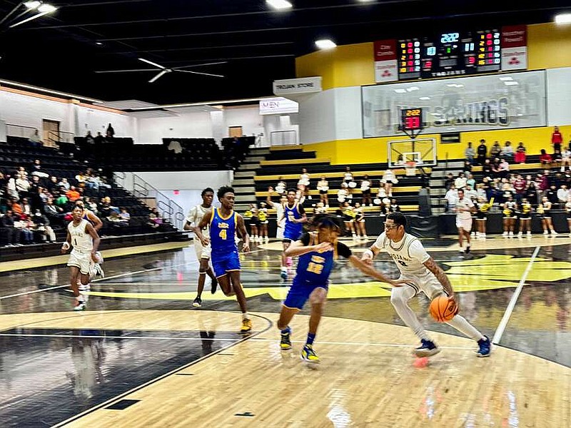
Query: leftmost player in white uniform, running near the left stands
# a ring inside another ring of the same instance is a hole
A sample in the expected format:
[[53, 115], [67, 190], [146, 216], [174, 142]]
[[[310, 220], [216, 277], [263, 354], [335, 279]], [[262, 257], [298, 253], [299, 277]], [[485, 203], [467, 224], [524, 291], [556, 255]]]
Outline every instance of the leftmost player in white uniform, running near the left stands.
[[85, 220], [84, 208], [79, 205], [71, 212], [73, 221], [67, 226], [67, 238], [64, 245], [61, 245], [61, 253], [66, 253], [72, 248], [67, 265], [70, 270], [70, 285], [74, 292], [74, 310], [84, 310], [86, 307], [86, 296], [79, 293], [78, 277], [81, 286], [89, 289], [89, 273], [94, 263], [99, 263], [97, 248], [101, 239], [91, 223]]

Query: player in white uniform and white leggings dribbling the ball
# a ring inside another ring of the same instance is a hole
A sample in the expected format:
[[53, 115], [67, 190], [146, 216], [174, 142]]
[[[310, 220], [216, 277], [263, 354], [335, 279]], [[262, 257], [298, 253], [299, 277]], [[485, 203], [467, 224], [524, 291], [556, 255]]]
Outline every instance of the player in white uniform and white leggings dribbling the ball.
[[[408, 300], [422, 291], [430, 300], [447, 295], [454, 302], [458, 303], [458, 301], [444, 271], [426, 253], [418, 238], [405, 233], [405, 227], [406, 218], [403, 213], [390, 213], [385, 221], [385, 232], [381, 233], [375, 243], [363, 253], [362, 260], [372, 264], [373, 258], [380, 250], [385, 250], [395, 260], [400, 270], [398, 281], [407, 282], [408, 285], [393, 288], [390, 302], [400, 319], [420, 338], [421, 345], [414, 350], [415, 355], [429, 357], [438, 354], [440, 349], [430, 339], [415, 312], [408, 306]], [[477, 341], [478, 357], [490, 355], [490, 339], [477, 331], [464, 317], [457, 314], [447, 324]]]

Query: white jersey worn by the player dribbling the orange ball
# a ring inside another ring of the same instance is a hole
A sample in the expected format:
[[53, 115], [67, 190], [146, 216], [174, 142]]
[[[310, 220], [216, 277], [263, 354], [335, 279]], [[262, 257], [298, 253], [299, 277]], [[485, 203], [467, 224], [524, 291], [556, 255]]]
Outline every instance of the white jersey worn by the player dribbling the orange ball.
[[400, 270], [403, 277], [426, 275], [427, 272], [430, 272], [423, 265], [430, 258], [430, 255], [426, 253], [420, 240], [413, 235], [405, 233], [402, 240], [398, 243], [393, 243], [393, 241], [387, 238], [386, 233], [383, 232], [373, 245], [379, 250], [385, 250], [395, 260], [398, 270]]

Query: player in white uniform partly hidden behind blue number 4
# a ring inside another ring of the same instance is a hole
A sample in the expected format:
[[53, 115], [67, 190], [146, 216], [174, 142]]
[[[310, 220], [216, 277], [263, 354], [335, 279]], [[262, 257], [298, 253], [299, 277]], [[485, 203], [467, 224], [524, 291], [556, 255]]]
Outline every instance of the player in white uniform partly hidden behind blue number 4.
[[[186, 223], [184, 225], [184, 230], [192, 230], [196, 232], [196, 226], [201, 223], [202, 218], [206, 213], [210, 214], [212, 210], [212, 200], [214, 198], [214, 190], [211, 188], [206, 188], [202, 190], [202, 203], [201, 205], [196, 205], [196, 207], [191, 209], [186, 217]], [[210, 238], [210, 233], [208, 233], [208, 228], [202, 231], [202, 235], [206, 238]], [[195, 235], [196, 236], [196, 235]], [[196, 258], [200, 262], [198, 267], [198, 290], [196, 291], [196, 298], [194, 299], [192, 305], [193, 307], [202, 306], [202, 291], [204, 290], [204, 282], [206, 281], [206, 275], [208, 275], [212, 280], [211, 292], [214, 294], [216, 292], [216, 286], [218, 281], [216, 280], [216, 275], [212, 272], [210, 265], [208, 265], [208, 260], [210, 260], [210, 245], [206, 247], [202, 245], [201, 241], [194, 240], [194, 250], [196, 250]]]

